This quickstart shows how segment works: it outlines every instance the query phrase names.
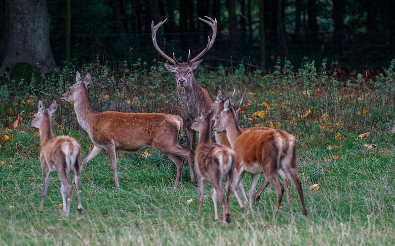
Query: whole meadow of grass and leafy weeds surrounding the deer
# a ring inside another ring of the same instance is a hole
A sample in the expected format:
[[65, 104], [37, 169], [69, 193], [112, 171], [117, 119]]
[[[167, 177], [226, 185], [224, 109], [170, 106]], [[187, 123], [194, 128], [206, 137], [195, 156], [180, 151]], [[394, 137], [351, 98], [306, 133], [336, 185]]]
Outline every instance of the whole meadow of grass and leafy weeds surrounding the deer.
[[[173, 189], [174, 164], [152, 149], [117, 152], [120, 188], [114, 187], [106, 153], [87, 163], [81, 173], [83, 215], [77, 213], [74, 187], [70, 216], [62, 215], [60, 181], [52, 174], [40, 211], [40, 137], [29, 123], [38, 100], [46, 106], [58, 102], [53, 132], [75, 137], [82, 156], [91, 141], [73, 105], [59, 99], [74, 83], [74, 69], [45, 80], [12, 81], [0, 90], [0, 245], [394, 245], [395, 136], [389, 132], [395, 119], [394, 64], [374, 78], [366, 71], [346, 80], [324, 62], [316, 68], [304, 61], [299, 69], [279, 62], [271, 73], [242, 65], [199, 67], [197, 81], [211, 98], [234, 88], [244, 97], [238, 113], [243, 127], [280, 128], [298, 139], [308, 217], [291, 184], [290, 204], [284, 195], [273, 219], [276, 193], [269, 185], [248, 213], [232, 194], [230, 224], [213, 220], [210, 183], [197, 216], [197, 188], [189, 182], [188, 166]], [[120, 70], [103, 64], [81, 71], [92, 74], [88, 89], [96, 110], [179, 114], [174, 75], [162, 64], [136, 62]], [[185, 146], [183, 134], [180, 143]], [[243, 180], [248, 189], [250, 175]]]

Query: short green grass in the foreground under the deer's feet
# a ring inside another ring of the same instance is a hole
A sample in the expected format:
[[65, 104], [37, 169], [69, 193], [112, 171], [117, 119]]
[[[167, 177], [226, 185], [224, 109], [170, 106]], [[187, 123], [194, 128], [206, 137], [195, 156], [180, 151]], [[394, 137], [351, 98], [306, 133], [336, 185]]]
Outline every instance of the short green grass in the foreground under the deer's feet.
[[[148, 158], [118, 152], [119, 189], [106, 153], [90, 161], [81, 177], [83, 215], [77, 213], [74, 187], [70, 216], [62, 215], [60, 181], [53, 174], [40, 211], [39, 137], [26, 131], [13, 131], [11, 141], [0, 143], [0, 161], [6, 162], [0, 164], [0, 245], [395, 244], [395, 137], [389, 133], [376, 132], [364, 141], [348, 137], [334, 150], [322, 139], [299, 139], [299, 175], [309, 217], [303, 217], [291, 185], [291, 204], [285, 205], [284, 196], [273, 220], [276, 193], [269, 185], [252, 213], [241, 213], [232, 194], [232, 221], [224, 225], [213, 220], [211, 185], [206, 185], [197, 217], [197, 189], [188, 182], [188, 168], [174, 190], [174, 164], [151, 150]], [[62, 133], [79, 140], [83, 156], [88, 153], [84, 132]], [[365, 142], [378, 149], [366, 149]], [[244, 181], [248, 189], [250, 176]], [[311, 191], [312, 184], [319, 189]]]

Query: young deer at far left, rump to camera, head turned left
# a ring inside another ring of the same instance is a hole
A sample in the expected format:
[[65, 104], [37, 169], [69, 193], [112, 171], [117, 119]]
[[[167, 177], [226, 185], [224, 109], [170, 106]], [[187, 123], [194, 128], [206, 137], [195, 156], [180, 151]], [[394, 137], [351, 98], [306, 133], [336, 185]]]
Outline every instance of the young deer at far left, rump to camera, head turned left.
[[82, 213], [81, 205], [81, 183], [79, 176], [81, 173], [81, 147], [79, 143], [69, 136], [53, 136], [51, 128], [51, 117], [56, 110], [56, 102], [53, 101], [51, 106], [44, 110], [44, 104], [39, 101], [39, 112], [34, 115], [32, 126], [40, 129], [40, 162], [42, 168], [42, 193], [40, 210], [44, 205], [44, 199], [49, 184], [51, 172], [57, 172], [61, 185], [60, 193], [63, 198], [63, 213], [68, 216], [71, 203], [71, 184], [67, 177], [68, 172], [72, 172], [74, 183], [77, 187], [77, 209], [79, 214]]

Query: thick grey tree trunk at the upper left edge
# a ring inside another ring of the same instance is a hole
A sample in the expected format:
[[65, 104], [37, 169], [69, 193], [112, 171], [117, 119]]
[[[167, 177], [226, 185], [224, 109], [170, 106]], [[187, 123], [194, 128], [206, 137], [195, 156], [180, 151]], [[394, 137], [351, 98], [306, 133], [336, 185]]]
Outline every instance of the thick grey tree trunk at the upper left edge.
[[0, 74], [10, 75], [20, 62], [31, 64], [41, 75], [56, 69], [49, 43], [46, 0], [4, 0], [2, 40], [4, 59]]

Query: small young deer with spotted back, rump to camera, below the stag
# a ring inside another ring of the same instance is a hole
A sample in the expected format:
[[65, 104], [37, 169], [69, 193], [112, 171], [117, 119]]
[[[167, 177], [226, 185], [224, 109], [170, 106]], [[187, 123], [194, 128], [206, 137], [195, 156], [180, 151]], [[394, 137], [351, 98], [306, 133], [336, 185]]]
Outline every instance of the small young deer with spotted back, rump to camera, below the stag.
[[[199, 205], [197, 215], [200, 215], [204, 198], [204, 181], [210, 180], [213, 185], [214, 219], [219, 220], [217, 200], [222, 206], [222, 222], [230, 222], [229, 199], [235, 172], [235, 152], [228, 147], [211, 142], [211, 114], [202, 110], [200, 116], [191, 124], [191, 128], [199, 133], [195, 164], [197, 182], [199, 184]], [[226, 205], [222, 179], [226, 176]]]

